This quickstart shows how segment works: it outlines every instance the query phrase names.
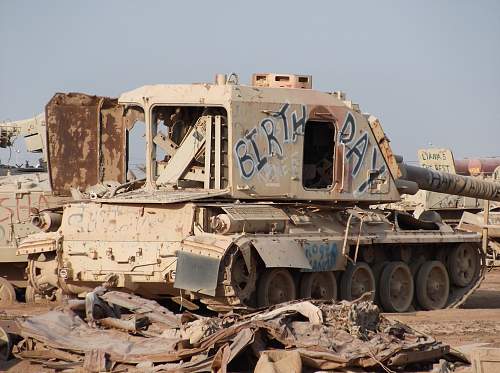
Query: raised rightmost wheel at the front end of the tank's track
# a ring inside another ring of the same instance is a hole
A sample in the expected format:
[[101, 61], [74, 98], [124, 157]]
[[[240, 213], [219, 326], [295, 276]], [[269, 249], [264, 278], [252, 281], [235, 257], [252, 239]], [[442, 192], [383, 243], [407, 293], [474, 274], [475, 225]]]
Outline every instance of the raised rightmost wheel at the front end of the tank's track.
[[479, 271], [480, 260], [472, 245], [464, 243], [452, 249], [447, 260], [451, 282], [460, 287], [470, 285]]

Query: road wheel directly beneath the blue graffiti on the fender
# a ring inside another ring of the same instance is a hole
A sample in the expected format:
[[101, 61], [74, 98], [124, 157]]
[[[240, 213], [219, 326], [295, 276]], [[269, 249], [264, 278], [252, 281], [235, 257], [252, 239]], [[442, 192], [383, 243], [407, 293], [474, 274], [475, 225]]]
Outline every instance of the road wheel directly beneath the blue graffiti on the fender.
[[332, 300], [337, 298], [337, 279], [333, 272], [306, 272], [300, 281], [300, 297]]

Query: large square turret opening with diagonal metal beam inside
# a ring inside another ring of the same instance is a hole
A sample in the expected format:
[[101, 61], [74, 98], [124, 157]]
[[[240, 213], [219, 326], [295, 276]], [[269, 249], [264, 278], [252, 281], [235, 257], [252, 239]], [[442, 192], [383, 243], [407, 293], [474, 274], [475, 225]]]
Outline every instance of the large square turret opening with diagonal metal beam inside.
[[157, 184], [206, 189], [227, 185], [224, 108], [157, 106], [152, 124]]

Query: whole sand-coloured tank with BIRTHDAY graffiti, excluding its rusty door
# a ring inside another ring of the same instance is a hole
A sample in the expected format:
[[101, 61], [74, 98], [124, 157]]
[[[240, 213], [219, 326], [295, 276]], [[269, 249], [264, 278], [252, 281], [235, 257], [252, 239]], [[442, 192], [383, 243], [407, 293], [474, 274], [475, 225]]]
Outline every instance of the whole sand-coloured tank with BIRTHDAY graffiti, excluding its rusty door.
[[484, 276], [479, 234], [369, 206], [419, 188], [498, 201], [500, 187], [405, 165], [378, 119], [309, 75], [219, 74], [119, 103], [145, 126], [145, 179], [65, 205], [21, 243], [39, 293], [105, 282], [216, 311], [368, 293], [405, 312], [457, 306]]

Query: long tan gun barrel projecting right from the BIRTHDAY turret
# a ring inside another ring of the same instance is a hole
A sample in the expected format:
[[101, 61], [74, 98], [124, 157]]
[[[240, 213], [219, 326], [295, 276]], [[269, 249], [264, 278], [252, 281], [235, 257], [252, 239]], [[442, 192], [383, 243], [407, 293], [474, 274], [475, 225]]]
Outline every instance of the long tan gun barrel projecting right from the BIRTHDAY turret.
[[449, 174], [429, 168], [400, 164], [401, 179], [414, 182], [420, 189], [500, 202], [500, 183], [470, 176]]

